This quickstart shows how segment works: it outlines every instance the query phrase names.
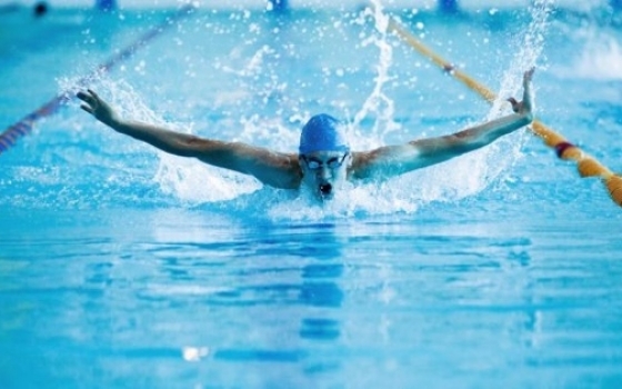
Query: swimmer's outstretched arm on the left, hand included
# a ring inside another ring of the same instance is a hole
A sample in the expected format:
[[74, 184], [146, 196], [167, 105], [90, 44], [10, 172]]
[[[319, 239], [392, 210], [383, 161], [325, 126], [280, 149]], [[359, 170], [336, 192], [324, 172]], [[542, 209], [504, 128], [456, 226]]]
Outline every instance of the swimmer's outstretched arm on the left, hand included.
[[275, 188], [295, 189], [300, 186], [302, 173], [295, 154], [241, 142], [199, 138], [149, 123], [123, 120], [92, 90], [78, 92], [77, 97], [84, 102], [81, 108], [106, 126], [162, 151], [250, 174]]

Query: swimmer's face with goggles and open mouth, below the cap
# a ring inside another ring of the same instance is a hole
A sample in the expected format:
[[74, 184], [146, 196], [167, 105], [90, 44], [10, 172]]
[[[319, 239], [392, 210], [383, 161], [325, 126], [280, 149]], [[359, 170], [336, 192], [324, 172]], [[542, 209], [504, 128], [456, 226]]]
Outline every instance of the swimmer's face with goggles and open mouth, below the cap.
[[348, 178], [352, 154], [342, 151], [315, 151], [300, 156], [302, 180], [320, 200], [330, 200]]

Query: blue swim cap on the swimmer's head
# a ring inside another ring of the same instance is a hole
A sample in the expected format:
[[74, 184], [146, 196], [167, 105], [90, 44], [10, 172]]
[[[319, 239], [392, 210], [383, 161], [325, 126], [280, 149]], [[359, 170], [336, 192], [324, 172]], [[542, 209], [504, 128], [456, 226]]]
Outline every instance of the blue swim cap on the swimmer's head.
[[299, 152], [307, 154], [315, 151], [350, 151], [342, 124], [330, 114], [315, 114], [302, 128]]

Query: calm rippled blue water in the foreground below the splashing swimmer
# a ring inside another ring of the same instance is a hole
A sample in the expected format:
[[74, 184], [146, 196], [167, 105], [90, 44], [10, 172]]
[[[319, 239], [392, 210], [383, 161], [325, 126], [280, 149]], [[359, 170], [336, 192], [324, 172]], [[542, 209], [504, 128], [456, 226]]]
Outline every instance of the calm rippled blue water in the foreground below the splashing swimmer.
[[80, 227], [76, 213], [17, 219], [0, 247], [0, 365], [13, 387], [86, 370], [86, 386], [153, 388], [621, 378], [616, 221], [590, 216], [593, 231], [570, 239], [568, 220], [437, 212], [321, 225], [184, 210], [82, 216]]

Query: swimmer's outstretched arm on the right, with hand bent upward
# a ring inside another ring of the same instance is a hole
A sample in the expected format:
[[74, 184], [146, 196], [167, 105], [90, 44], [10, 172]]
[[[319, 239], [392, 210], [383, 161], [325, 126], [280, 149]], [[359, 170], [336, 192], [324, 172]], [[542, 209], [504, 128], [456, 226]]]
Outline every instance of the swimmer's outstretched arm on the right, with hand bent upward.
[[490, 144], [533, 121], [531, 79], [534, 69], [523, 74], [523, 99], [509, 99], [514, 113], [449, 136], [419, 139], [353, 154], [351, 177], [387, 178], [447, 161]]

